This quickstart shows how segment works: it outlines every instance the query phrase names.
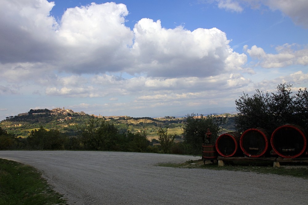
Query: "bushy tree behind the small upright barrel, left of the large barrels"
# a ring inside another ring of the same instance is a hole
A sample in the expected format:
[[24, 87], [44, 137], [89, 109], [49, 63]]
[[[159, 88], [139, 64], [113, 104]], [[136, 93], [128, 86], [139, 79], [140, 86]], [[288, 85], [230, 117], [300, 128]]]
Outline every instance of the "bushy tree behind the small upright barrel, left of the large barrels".
[[211, 142], [214, 144], [221, 128], [219, 125], [225, 123], [226, 117], [219, 117], [215, 114], [204, 117], [192, 113], [187, 115], [186, 123], [183, 126], [184, 141], [187, 143], [193, 154], [201, 152], [201, 145], [205, 142], [207, 129], [212, 132]]

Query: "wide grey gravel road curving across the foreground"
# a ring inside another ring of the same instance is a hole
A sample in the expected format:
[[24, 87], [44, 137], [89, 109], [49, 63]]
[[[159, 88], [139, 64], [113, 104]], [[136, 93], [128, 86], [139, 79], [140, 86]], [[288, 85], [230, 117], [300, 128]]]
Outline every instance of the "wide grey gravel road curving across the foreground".
[[[69, 204], [307, 204], [308, 180], [159, 167], [193, 156], [102, 151], [0, 151], [43, 171]], [[197, 158], [198, 159], [198, 158]]]

